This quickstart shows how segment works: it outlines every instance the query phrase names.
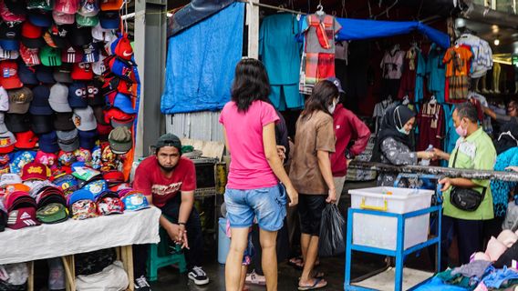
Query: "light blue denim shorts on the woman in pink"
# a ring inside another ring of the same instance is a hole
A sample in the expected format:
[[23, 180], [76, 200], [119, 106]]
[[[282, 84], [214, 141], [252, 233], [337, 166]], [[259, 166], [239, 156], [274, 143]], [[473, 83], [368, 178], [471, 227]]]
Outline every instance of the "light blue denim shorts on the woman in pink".
[[231, 227], [250, 227], [257, 224], [266, 231], [283, 227], [286, 216], [286, 191], [282, 185], [253, 190], [226, 188], [225, 205]]

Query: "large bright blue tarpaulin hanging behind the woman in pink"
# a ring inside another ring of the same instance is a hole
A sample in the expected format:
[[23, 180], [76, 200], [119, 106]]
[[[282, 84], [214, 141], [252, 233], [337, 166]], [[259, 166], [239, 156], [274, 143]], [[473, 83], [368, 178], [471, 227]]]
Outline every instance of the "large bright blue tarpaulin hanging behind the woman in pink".
[[169, 39], [163, 114], [222, 109], [243, 53], [244, 4], [234, 3]]

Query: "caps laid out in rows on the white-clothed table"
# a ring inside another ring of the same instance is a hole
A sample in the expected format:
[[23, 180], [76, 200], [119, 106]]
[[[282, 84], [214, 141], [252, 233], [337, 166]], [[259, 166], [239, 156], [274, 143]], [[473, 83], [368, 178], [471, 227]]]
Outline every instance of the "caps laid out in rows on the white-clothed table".
[[0, 231], [41, 224], [57, 224], [68, 217], [87, 219], [148, 208], [146, 197], [124, 183], [118, 171], [104, 174], [74, 166], [51, 176], [50, 169], [32, 162], [22, 176], [0, 176]]

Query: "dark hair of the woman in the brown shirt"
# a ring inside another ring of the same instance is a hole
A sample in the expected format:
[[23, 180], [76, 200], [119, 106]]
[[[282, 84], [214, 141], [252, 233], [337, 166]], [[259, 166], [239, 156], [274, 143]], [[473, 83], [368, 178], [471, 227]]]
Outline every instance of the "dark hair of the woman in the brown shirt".
[[302, 112], [302, 119], [306, 120], [311, 118], [311, 115], [315, 111], [324, 111], [326, 114], [331, 115], [327, 110], [327, 106], [331, 105], [333, 98], [338, 96], [337, 85], [331, 81], [320, 81], [313, 87], [313, 92], [307, 98], [304, 111]]

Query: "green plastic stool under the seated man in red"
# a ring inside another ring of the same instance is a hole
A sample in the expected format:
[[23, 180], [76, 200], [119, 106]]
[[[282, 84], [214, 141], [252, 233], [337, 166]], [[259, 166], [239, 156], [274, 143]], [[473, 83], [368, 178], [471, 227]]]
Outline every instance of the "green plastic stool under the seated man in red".
[[[168, 218], [169, 219], [169, 218]], [[176, 246], [174, 253], [171, 254], [169, 235], [163, 227], [160, 227], [159, 235], [161, 241], [158, 244], [150, 245], [150, 254], [148, 255], [147, 271], [148, 280], [154, 282], [158, 279], [159, 269], [163, 266], [177, 266], [180, 273], [187, 272], [187, 263], [185, 262], [185, 256], [181, 250], [181, 246]]]

